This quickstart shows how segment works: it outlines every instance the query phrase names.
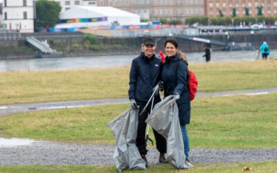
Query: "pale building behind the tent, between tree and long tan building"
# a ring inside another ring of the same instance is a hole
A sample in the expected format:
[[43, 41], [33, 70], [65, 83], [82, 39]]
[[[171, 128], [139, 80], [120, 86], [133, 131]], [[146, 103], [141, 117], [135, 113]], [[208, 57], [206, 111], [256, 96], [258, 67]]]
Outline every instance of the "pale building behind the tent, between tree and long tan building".
[[64, 12], [66, 10], [69, 10], [75, 6], [96, 6], [96, 0], [50, 0], [50, 1], [56, 1], [57, 3], [60, 3], [60, 6], [62, 7], [62, 11]]

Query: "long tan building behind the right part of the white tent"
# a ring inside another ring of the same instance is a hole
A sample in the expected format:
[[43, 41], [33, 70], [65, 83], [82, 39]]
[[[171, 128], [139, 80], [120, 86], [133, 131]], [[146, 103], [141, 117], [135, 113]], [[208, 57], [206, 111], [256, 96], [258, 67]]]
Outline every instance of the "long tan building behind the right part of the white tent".
[[126, 10], [145, 19], [184, 20], [204, 15], [204, 0], [97, 0], [97, 4]]

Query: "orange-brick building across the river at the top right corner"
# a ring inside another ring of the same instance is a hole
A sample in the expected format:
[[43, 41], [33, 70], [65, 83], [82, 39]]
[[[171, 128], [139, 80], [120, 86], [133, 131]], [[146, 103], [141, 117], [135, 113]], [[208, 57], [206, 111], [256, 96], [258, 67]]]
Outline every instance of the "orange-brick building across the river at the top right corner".
[[249, 16], [258, 15], [258, 8], [262, 7], [262, 15], [265, 17], [277, 15], [276, 0], [207, 0], [206, 16], [218, 17], [220, 10], [225, 17], [233, 16], [235, 9], [236, 16], [242, 17], [249, 12]]

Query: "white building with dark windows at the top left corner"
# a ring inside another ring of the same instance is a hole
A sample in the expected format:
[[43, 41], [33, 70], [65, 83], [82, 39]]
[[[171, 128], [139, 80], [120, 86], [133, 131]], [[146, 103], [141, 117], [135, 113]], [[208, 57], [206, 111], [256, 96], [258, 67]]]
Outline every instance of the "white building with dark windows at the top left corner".
[[33, 0], [3, 0], [3, 28], [34, 33]]

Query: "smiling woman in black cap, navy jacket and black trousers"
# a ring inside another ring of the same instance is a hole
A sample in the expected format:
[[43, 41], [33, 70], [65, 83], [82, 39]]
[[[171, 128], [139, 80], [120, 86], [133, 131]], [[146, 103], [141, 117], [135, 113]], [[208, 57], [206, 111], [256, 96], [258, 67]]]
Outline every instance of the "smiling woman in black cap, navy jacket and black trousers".
[[[141, 113], [148, 100], [152, 95], [152, 90], [161, 80], [161, 69], [163, 63], [161, 60], [154, 55], [156, 49], [156, 42], [152, 37], [147, 37], [143, 40], [142, 51], [139, 57], [132, 60], [131, 71], [129, 73], [129, 100], [133, 109], [138, 109], [139, 107], [139, 125], [138, 133], [136, 137], [136, 146], [139, 149], [141, 157], [148, 167], [148, 161], [146, 154], [148, 149], [146, 149], [145, 141], [145, 120], [148, 118], [148, 113], [150, 113], [151, 104], [148, 105], [148, 109]], [[161, 98], [159, 93], [154, 97], [154, 104], [160, 102]], [[166, 139], [154, 131], [154, 137], [157, 143], [157, 149], [160, 152], [159, 162], [166, 163]]]

